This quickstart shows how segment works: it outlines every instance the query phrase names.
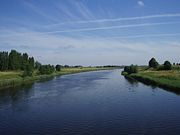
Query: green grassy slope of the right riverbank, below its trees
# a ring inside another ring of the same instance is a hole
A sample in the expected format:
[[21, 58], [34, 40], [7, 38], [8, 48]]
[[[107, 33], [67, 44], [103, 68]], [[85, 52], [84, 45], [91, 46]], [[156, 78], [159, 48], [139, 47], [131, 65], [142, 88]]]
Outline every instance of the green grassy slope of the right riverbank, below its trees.
[[180, 90], [180, 67], [177, 66], [173, 67], [172, 70], [166, 71], [139, 68], [138, 73], [130, 75], [123, 74], [146, 84], [152, 84], [170, 90]]

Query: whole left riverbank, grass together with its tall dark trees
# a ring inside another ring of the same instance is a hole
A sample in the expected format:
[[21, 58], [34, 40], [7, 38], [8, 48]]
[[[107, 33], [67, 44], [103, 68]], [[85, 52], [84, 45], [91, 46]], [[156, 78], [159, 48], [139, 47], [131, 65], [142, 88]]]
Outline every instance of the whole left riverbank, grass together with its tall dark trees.
[[54, 76], [119, 68], [117, 66], [82, 67], [69, 65], [42, 65], [27, 53], [16, 50], [0, 52], [0, 89], [26, 85]]

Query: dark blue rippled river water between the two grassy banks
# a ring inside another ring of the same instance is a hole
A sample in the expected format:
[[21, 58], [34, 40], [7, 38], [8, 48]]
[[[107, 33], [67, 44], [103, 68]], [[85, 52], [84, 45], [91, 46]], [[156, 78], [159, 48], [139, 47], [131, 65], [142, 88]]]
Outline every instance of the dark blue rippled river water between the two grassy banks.
[[64, 75], [0, 91], [0, 135], [180, 134], [180, 97], [121, 70]]

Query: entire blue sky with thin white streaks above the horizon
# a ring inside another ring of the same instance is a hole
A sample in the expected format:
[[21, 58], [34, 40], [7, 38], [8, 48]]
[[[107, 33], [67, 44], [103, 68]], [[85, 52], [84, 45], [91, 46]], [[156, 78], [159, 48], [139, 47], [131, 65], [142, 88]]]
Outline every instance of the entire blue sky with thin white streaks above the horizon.
[[179, 0], [0, 0], [0, 50], [42, 63], [180, 62]]

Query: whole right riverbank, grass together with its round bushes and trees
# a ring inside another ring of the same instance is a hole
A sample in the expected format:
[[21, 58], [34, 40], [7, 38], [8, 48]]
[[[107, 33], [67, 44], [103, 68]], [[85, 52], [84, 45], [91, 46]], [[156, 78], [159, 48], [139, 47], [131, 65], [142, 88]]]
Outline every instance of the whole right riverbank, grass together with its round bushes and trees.
[[180, 90], [180, 64], [165, 61], [160, 65], [152, 58], [148, 66], [125, 66], [122, 75], [169, 90]]

